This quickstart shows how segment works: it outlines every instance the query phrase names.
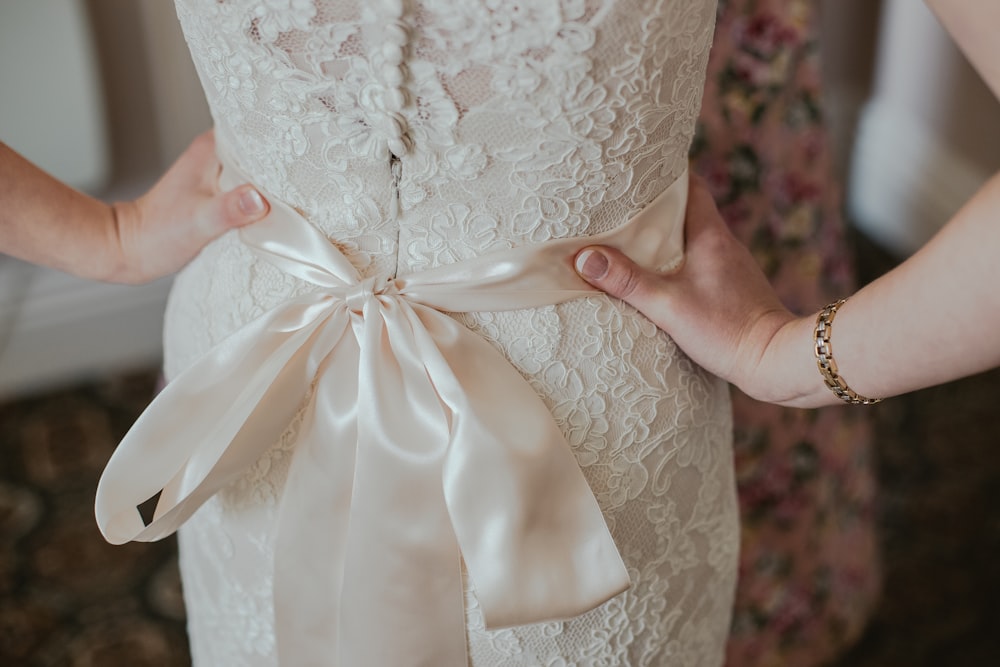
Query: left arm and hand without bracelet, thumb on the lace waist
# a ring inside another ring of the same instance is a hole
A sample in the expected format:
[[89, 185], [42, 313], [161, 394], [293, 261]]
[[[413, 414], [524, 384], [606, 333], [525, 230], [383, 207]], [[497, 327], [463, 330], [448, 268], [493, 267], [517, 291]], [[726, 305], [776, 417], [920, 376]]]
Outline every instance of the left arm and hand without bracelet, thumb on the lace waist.
[[267, 215], [252, 186], [219, 192], [218, 176], [206, 132], [149, 192], [108, 206], [0, 143], [0, 253], [91, 280], [165, 276], [223, 232]]

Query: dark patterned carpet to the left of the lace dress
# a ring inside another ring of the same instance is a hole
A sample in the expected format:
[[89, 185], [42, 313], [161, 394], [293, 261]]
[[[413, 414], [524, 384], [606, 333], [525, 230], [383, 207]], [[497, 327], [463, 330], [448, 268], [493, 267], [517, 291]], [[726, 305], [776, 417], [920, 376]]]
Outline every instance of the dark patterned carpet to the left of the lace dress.
[[97, 480], [156, 374], [0, 406], [0, 665], [189, 665], [176, 544], [114, 547]]

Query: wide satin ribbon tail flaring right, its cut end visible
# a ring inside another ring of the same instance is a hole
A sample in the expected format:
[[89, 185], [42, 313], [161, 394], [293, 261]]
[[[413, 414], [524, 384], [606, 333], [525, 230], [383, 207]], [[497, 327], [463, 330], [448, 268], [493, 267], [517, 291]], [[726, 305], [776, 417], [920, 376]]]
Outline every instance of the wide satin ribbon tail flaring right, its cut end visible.
[[418, 352], [451, 411], [445, 497], [487, 625], [570, 618], [628, 588], [597, 500], [531, 386], [452, 318], [414, 313], [426, 331]]

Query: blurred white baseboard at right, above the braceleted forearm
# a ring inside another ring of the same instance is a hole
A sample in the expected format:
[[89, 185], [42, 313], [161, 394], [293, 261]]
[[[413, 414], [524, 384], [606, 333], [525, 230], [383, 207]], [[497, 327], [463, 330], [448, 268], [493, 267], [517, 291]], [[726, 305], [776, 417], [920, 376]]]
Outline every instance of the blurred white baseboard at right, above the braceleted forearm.
[[905, 257], [930, 240], [990, 176], [909, 110], [875, 99], [858, 124], [848, 214], [865, 234]]

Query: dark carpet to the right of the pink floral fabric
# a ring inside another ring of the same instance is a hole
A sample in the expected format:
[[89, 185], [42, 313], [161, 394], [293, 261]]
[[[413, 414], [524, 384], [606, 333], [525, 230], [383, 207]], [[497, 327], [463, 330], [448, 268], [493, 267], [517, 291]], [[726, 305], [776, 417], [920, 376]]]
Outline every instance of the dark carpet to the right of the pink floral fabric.
[[[862, 283], [892, 268], [854, 236]], [[1000, 665], [998, 408], [1000, 369], [873, 407], [885, 586], [837, 667]]]

